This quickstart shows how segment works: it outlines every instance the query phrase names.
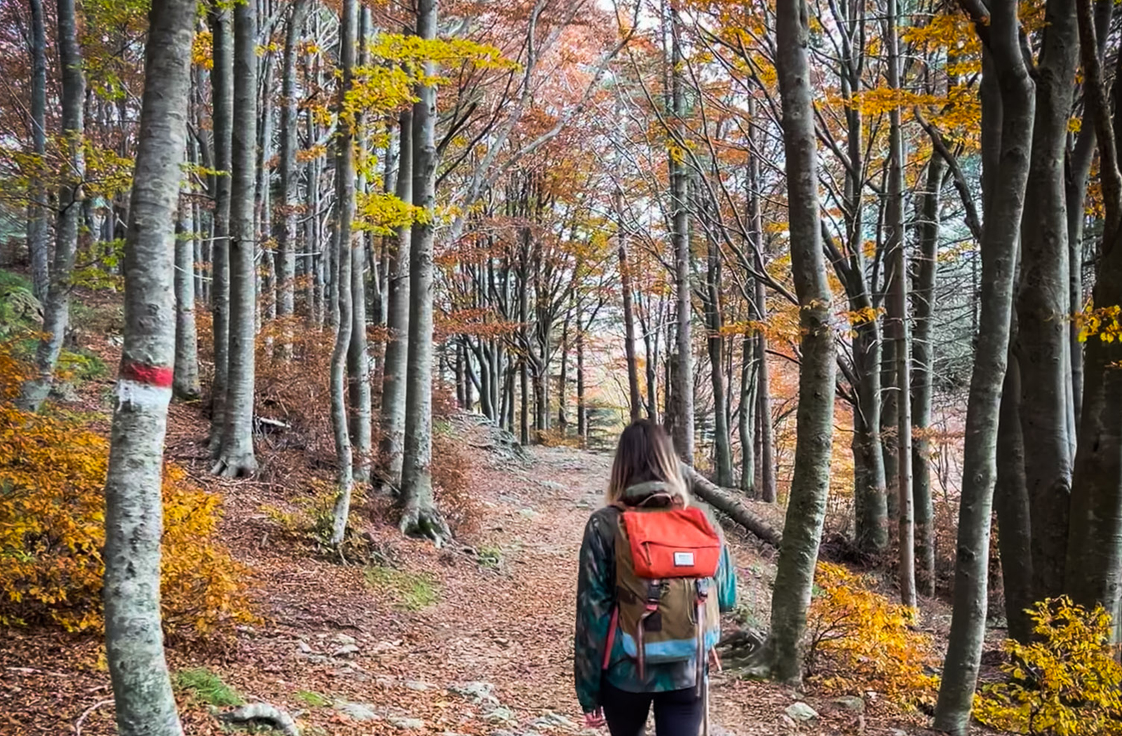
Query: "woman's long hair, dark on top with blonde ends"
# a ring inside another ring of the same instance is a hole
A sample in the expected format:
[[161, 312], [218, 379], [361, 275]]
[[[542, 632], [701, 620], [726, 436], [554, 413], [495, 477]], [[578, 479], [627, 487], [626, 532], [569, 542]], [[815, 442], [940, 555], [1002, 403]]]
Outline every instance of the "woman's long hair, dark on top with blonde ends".
[[606, 499], [609, 504], [619, 503], [629, 487], [651, 481], [665, 484], [675, 503], [689, 505], [689, 491], [670, 435], [660, 424], [635, 420], [619, 435]]

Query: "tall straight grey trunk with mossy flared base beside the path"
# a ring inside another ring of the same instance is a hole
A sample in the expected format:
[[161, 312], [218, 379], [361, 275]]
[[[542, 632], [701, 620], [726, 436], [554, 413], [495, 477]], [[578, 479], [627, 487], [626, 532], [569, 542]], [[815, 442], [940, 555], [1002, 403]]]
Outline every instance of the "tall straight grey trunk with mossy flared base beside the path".
[[[417, 36], [436, 37], [436, 0], [417, 0]], [[435, 64], [425, 62], [425, 74]], [[405, 389], [405, 460], [402, 468], [402, 532], [438, 544], [448, 536], [432, 493], [432, 298], [436, 200], [436, 88], [421, 85], [413, 105], [413, 204], [427, 215], [410, 248], [410, 347]]]

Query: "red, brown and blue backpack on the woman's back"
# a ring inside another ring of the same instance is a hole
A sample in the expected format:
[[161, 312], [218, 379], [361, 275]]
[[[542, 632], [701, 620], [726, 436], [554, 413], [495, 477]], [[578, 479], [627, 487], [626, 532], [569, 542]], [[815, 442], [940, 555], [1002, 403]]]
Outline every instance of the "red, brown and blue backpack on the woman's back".
[[[647, 500], [660, 497], [665, 500], [663, 494]], [[717, 602], [709, 599], [720, 564], [720, 537], [700, 508], [617, 508], [616, 605], [604, 669], [610, 664], [618, 631], [641, 679], [647, 663], [696, 657], [700, 687], [706, 655], [720, 636]]]

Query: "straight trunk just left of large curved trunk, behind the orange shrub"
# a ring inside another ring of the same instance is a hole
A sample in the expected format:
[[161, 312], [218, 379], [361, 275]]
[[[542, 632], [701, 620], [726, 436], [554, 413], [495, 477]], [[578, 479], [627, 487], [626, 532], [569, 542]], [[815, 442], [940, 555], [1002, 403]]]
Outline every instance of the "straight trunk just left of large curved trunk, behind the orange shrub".
[[935, 314], [935, 280], [939, 255], [939, 194], [946, 163], [932, 155], [927, 165], [927, 186], [919, 211], [919, 266], [912, 291], [916, 333], [912, 337], [912, 427], [917, 430], [912, 445], [912, 498], [916, 505], [916, 554], [920, 590], [935, 597], [935, 508], [931, 502], [931, 425], [932, 370], [935, 350], [931, 344]]

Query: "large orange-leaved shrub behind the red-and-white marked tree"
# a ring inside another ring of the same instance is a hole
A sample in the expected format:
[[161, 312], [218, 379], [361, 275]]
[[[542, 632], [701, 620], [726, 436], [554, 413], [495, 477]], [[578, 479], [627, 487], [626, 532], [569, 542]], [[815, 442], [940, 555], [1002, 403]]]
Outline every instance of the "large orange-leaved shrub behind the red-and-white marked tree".
[[[81, 421], [16, 407], [26, 375], [0, 343], [0, 625], [102, 625], [104, 485], [109, 442]], [[160, 570], [168, 635], [210, 634], [251, 620], [246, 571], [213, 541], [214, 494], [164, 468]]]

